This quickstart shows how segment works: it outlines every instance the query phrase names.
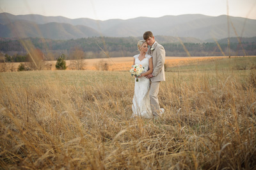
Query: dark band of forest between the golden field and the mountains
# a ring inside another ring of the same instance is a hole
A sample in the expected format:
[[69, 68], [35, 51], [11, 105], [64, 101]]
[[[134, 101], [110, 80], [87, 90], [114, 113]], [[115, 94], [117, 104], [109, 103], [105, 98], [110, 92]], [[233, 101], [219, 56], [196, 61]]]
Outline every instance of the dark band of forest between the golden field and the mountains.
[[[140, 38], [93, 37], [77, 40], [49, 40], [42, 38], [26, 38], [22, 40], [0, 40], [0, 50], [12, 56], [13, 62], [29, 60], [29, 50], [39, 49], [46, 60], [56, 60], [60, 54], [67, 59], [74, 59], [74, 50], [84, 52], [84, 58], [126, 57], [138, 54], [137, 42]], [[156, 39], [157, 40], [157, 39]], [[161, 43], [161, 42], [159, 42]], [[204, 42], [204, 43], [161, 43], [166, 56], [247, 56], [256, 55], [255, 42]], [[10, 58], [6, 58], [9, 59]]]

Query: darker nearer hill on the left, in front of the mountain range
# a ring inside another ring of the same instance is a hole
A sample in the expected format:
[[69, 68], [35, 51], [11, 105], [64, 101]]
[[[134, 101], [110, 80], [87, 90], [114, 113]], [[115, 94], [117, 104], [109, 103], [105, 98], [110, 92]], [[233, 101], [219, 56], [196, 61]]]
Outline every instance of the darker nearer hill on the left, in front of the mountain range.
[[71, 24], [49, 22], [35, 24], [27, 20], [16, 20], [10, 24], [0, 24], [2, 38], [50, 38], [52, 40], [68, 40], [100, 36], [100, 33], [87, 26], [72, 26]]

